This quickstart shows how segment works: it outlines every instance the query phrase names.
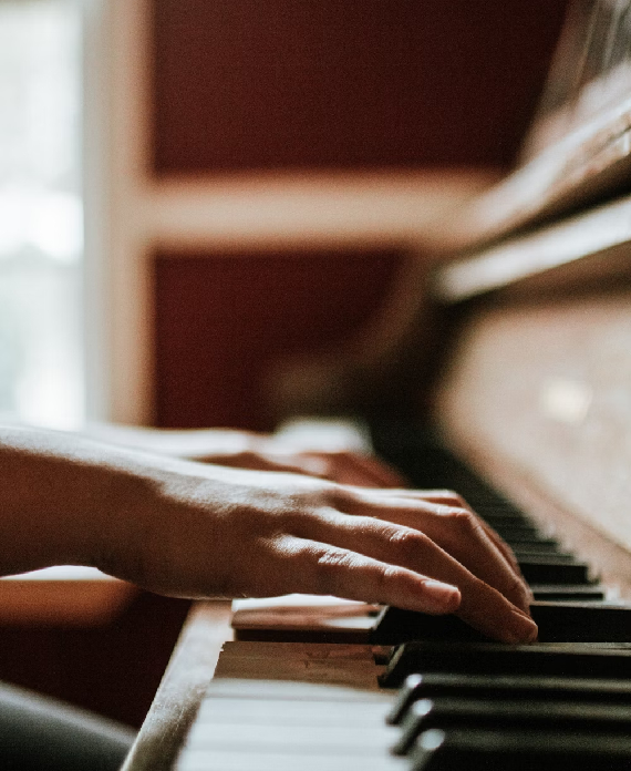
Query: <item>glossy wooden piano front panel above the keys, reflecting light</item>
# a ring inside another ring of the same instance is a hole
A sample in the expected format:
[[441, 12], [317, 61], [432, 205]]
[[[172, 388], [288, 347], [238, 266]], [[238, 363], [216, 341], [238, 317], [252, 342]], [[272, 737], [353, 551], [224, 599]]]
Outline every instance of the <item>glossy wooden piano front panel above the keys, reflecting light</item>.
[[452, 446], [631, 595], [631, 289], [487, 304], [437, 399]]

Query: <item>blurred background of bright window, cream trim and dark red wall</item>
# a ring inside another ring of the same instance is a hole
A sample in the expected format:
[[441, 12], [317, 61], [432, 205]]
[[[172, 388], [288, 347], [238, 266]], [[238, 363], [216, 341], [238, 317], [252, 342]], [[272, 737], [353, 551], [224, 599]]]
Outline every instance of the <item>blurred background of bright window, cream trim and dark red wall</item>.
[[[565, 7], [0, 0], [0, 412], [272, 429], [515, 164]], [[185, 613], [13, 619], [0, 677], [138, 724]]]

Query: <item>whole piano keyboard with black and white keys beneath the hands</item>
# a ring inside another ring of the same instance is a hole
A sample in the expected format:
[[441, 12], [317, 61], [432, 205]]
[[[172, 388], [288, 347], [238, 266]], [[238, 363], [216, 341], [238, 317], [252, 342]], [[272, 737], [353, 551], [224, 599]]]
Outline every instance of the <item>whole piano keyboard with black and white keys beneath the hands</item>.
[[355, 642], [259, 629], [277, 641], [225, 644], [178, 771], [631, 771], [631, 605], [439, 446], [406, 462], [377, 449], [414, 486], [462, 492], [511, 544], [539, 641], [396, 608], [355, 615]]

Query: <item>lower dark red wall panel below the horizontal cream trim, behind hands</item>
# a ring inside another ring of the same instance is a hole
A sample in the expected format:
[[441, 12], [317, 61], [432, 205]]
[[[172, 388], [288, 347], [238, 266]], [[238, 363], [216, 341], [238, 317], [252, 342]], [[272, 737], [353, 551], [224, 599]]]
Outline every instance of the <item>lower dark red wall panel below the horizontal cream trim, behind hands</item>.
[[402, 259], [387, 250], [158, 255], [156, 423], [272, 428], [263, 389], [270, 363], [351, 333]]

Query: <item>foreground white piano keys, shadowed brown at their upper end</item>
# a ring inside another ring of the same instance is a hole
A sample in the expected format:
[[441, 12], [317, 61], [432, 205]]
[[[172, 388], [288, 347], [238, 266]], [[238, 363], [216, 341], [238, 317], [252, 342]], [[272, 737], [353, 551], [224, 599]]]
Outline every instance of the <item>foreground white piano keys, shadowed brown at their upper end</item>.
[[392, 691], [362, 645], [227, 642], [178, 771], [395, 771]]

